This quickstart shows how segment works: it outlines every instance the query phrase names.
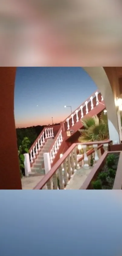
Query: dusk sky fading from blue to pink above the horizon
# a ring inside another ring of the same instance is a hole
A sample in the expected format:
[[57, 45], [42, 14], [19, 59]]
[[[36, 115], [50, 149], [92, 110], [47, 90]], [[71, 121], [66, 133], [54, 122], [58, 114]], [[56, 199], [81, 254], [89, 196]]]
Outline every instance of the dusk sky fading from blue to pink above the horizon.
[[[18, 67], [15, 79], [16, 127], [63, 121], [97, 87], [81, 67]], [[38, 105], [38, 106], [37, 106]]]

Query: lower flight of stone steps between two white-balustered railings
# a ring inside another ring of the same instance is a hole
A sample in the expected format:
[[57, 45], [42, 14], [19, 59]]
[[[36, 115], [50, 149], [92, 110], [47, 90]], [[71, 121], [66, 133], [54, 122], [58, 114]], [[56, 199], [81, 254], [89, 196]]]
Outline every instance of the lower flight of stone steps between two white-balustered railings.
[[43, 146], [42, 150], [37, 155], [37, 159], [35, 160], [35, 163], [33, 164], [33, 167], [31, 167], [31, 173], [29, 173], [29, 176], [41, 176], [45, 175], [45, 168], [44, 168], [44, 157], [43, 154], [48, 152], [51, 144], [53, 142], [53, 139], [48, 139], [45, 142], [45, 145]]

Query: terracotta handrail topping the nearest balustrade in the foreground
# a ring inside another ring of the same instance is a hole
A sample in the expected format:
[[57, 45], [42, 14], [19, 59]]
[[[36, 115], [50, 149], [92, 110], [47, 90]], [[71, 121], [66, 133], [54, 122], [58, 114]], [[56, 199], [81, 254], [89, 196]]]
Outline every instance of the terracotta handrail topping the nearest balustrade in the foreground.
[[[112, 142], [110, 139], [106, 140], [104, 144]], [[54, 173], [57, 171], [59, 166], [64, 162], [64, 160], [68, 157], [68, 155], [71, 153], [71, 151], [75, 148], [77, 145], [93, 145], [93, 144], [103, 144], [103, 141], [95, 141], [95, 142], [84, 142], [84, 143], [73, 143], [68, 150], [64, 153], [64, 155], [54, 164], [54, 166], [51, 168], [51, 170], [44, 176], [44, 178], [35, 186], [34, 189], [42, 189], [45, 184], [48, 182], [48, 180], [54, 175]]]

